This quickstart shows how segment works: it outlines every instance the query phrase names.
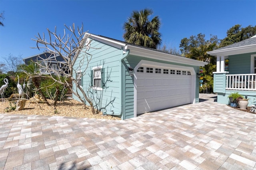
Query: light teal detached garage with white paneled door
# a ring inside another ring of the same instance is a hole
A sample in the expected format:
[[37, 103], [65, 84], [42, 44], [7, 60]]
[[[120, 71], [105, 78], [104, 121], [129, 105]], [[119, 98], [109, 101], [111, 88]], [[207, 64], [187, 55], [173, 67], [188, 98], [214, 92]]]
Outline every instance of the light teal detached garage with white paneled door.
[[197, 73], [208, 63], [89, 33], [84, 39], [92, 58], [87, 65], [78, 53], [73, 76], [103, 114], [128, 119], [199, 102]]

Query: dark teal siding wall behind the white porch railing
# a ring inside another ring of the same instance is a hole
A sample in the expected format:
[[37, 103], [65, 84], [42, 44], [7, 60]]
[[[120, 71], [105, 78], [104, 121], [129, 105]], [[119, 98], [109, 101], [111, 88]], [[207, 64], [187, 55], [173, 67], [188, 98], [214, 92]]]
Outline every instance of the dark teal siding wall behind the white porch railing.
[[255, 53], [246, 53], [228, 56], [229, 74], [250, 74], [251, 55]]

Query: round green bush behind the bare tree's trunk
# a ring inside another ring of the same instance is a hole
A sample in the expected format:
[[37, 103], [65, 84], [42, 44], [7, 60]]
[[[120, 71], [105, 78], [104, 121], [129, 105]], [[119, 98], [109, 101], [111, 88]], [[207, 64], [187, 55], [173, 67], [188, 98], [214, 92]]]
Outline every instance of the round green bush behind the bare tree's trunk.
[[67, 88], [64, 89], [64, 85], [61, 85], [60, 83], [57, 83], [57, 82], [54, 84], [53, 83], [54, 83], [53, 79], [42, 79], [40, 83], [40, 88], [47, 99], [52, 99], [52, 97], [56, 93], [56, 89], [58, 88], [60, 90], [60, 94], [58, 95], [58, 101], [60, 101], [61, 97], [66, 96], [68, 89]]

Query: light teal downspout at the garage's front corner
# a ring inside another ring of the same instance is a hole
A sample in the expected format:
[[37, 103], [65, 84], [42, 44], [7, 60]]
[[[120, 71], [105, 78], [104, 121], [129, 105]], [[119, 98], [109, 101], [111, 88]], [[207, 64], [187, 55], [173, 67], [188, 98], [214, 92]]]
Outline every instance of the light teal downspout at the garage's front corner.
[[[127, 48], [127, 46], [124, 47], [125, 49]], [[122, 47], [122, 53], [124, 53], [124, 48]], [[126, 52], [122, 55], [122, 57], [120, 58], [119, 60], [119, 63], [121, 64], [121, 67], [120, 67], [120, 77], [121, 77], [121, 81], [120, 81], [120, 87], [121, 87], [121, 93], [120, 93], [120, 99], [121, 99], [121, 111], [120, 112], [114, 112], [114, 111], [110, 111], [110, 112], [104, 112], [103, 115], [112, 115], [112, 116], [121, 116], [122, 113], [123, 113], [123, 85], [122, 85], [122, 80], [123, 80], [123, 64], [122, 64], [122, 61], [124, 59], [126, 59], [126, 57], [128, 57], [130, 51], [129, 50], [126, 50]]]

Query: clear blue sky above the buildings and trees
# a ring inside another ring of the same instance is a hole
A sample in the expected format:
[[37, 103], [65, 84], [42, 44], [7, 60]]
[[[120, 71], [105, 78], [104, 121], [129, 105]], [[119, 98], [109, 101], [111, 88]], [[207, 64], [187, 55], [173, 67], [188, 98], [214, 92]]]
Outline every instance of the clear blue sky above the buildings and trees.
[[180, 40], [199, 33], [219, 39], [236, 24], [256, 25], [256, 0], [0, 0], [0, 62], [12, 55], [42, 53], [31, 40], [46, 29], [62, 34], [64, 24], [123, 41], [122, 26], [133, 10], [150, 8], [161, 20], [162, 43], [179, 49]]

